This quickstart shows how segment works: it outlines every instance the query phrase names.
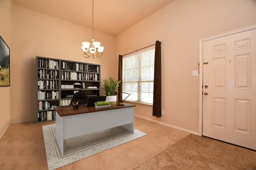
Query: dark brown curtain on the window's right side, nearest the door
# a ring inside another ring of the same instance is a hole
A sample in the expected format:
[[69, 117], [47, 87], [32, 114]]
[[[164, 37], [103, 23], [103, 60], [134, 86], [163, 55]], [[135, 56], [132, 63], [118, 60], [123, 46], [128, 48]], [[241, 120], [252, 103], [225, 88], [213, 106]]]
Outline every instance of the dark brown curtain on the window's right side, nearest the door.
[[158, 40], [155, 49], [153, 116], [161, 117], [161, 42]]

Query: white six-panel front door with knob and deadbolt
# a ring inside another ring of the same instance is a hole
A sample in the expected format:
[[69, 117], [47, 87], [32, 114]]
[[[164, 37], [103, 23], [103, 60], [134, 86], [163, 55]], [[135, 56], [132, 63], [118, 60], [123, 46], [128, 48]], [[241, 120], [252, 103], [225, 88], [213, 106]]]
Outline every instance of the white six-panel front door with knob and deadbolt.
[[256, 29], [203, 42], [203, 132], [256, 150]]

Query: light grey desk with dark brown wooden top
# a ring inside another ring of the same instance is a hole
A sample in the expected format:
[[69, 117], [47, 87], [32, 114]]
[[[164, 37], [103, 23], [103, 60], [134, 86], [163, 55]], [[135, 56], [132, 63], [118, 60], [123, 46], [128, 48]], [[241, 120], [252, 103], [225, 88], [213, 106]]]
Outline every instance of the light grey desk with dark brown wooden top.
[[79, 105], [77, 110], [73, 106], [58, 106], [56, 110], [56, 140], [63, 156], [63, 140], [70, 137], [84, 135], [116, 126], [121, 126], [134, 133], [134, 107], [125, 104], [117, 106], [118, 102], [110, 102], [110, 108], [96, 109]]

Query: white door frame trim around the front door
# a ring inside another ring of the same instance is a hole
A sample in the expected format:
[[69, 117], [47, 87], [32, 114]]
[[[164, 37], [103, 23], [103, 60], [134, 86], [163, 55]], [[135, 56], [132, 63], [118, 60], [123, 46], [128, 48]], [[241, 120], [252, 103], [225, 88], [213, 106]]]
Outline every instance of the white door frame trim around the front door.
[[223, 33], [223, 34], [219, 34], [219, 35], [215, 35], [213, 37], [208, 37], [208, 38], [204, 38], [199, 40], [199, 130], [198, 130], [198, 135], [202, 136], [202, 132], [203, 132], [203, 43], [205, 41], [208, 40], [212, 40], [215, 38], [220, 38], [220, 37], [225, 37], [228, 35], [233, 35], [233, 34], [237, 34], [237, 33], [241, 33], [241, 32], [245, 32], [245, 31], [249, 31], [252, 29], [256, 29], [256, 25], [252, 25], [249, 27], [244, 27], [241, 29], [236, 29], [234, 31], [230, 31], [227, 33]]

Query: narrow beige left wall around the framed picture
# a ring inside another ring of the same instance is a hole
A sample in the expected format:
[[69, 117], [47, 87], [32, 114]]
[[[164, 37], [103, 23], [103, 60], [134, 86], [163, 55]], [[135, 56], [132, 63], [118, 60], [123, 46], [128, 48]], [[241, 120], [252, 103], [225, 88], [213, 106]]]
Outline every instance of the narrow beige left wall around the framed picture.
[[[11, 49], [12, 1], [0, 1], [0, 35]], [[12, 50], [10, 50], [12, 57]], [[11, 68], [12, 69], [12, 68]], [[0, 87], [0, 136], [10, 124], [10, 87]]]

